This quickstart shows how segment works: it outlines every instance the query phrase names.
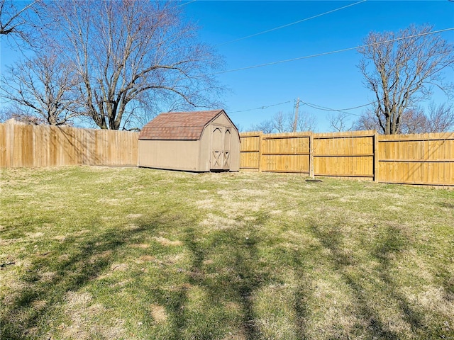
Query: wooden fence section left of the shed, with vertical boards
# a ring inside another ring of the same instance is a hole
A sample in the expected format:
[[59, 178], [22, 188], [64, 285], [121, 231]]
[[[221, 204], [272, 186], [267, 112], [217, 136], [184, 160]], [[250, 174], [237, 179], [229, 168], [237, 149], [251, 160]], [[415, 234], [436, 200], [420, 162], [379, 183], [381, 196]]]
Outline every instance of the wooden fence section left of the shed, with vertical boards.
[[0, 168], [137, 164], [138, 132], [0, 124]]

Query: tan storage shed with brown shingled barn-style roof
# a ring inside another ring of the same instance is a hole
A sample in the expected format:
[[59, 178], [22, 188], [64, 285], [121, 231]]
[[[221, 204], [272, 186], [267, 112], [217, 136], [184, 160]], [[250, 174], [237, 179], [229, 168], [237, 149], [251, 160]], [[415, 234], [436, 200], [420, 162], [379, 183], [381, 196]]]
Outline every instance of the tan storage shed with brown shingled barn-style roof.
[[139, 135], [139, 166], [238, 171], [240, 135], [223, 110], [161, 113]]

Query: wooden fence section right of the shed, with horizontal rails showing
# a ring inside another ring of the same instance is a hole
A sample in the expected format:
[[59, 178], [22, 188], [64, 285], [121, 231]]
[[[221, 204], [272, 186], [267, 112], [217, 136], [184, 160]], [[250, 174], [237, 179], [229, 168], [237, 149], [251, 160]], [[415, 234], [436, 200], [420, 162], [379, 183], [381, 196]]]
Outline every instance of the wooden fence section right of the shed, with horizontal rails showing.
[[240, 139], [243, 171], [454, 186], [454, 133], [382, 136], [375, 130], [271, 135], [245, 132]]

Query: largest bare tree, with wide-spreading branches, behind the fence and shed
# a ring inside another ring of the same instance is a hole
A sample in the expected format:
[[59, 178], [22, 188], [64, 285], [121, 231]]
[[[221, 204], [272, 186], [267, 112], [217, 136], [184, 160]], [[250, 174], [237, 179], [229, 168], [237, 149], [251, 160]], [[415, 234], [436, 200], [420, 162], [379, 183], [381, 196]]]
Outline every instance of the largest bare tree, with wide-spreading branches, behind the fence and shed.
[[174, 109], [218, 106], [218, 59], [172, 1], [67, 0], [44, 8], [54, 23], [48, 45], [74, 65], [80, 104], [99, 128], [131, 128], [150, 98]]

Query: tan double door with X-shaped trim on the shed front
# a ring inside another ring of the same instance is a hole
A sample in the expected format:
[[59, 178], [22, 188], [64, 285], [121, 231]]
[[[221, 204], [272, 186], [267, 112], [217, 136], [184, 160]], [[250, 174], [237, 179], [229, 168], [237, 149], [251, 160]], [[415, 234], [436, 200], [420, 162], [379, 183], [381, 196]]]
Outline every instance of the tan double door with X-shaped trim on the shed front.
[[230, 170], [231, 128], [213, 125], [211, 170]]

